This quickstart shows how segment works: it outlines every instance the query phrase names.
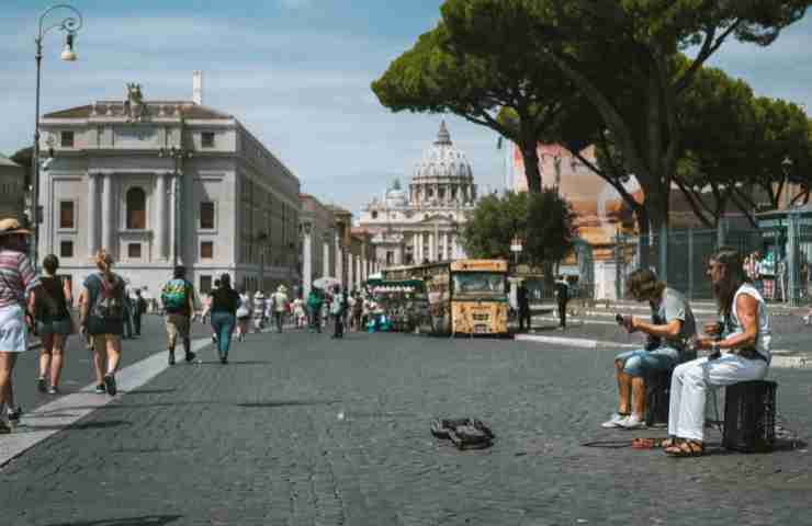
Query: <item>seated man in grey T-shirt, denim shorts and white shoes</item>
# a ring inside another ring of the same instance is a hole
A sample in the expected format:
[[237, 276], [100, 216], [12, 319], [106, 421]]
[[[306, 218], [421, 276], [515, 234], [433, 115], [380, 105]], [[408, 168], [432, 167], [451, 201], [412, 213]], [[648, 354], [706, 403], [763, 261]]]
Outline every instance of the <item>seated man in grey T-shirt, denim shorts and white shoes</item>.
[[[618, 412], [604, 427], [634, 430], [645, 426], [645, 377], [670, 370], [693, 357], [689, 342], [696, 335], [696, 321], [688, 301], [677, 290], [657, 279], [649, 270], [632, 272], [628, 291], [638, 301], [649, 301], [654, 323], [634, 316], [618, 320], [631, 333], [642, 331], [659, 339], [659, 345], [621, 353], [614, 358], [618, 379]], [[653, 347], [653, 348], [651, 348]], [[631, 402], [634, 407], [631, 407]]]

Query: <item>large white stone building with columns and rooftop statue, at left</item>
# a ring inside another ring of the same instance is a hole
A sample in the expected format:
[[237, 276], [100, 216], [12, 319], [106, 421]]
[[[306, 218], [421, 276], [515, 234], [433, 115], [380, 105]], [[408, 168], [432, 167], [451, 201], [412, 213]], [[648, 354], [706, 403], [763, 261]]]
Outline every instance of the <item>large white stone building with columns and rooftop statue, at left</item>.
[[[41, 148], [55, 158], [41, 176], [40, 259], [57, 254], [75, 294], [99, 248], [153, 296], [176, 261], [203, 291], [224, 272], [248, 289], [297, 284], [296, 176], [233, 115], [203, 105], [199, 72], [191, 101], [127, 90], [42, 117]], [[167, 156], [172, 147], [185, 155]]]

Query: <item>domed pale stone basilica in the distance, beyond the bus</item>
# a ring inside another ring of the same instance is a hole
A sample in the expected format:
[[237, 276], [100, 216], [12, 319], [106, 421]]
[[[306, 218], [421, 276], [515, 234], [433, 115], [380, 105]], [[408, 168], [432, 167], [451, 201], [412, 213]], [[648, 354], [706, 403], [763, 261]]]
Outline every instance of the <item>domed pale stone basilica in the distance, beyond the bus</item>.
[[471, 164], [443, 122], [408, 191], [395, 181], [383, 198], [362, 208], [359, 227], [372, 235], [380, 266], [462, 259], [461, 227], [476, 198]]

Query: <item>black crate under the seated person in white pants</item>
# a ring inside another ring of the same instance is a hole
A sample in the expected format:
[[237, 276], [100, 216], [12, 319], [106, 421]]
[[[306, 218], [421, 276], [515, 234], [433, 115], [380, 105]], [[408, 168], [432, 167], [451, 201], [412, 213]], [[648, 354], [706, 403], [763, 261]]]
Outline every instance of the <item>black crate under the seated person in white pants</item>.
[[742, 453], [771, 451], [776, 442], [776, 390], [768, 380], [728, 386], [722, 446]]

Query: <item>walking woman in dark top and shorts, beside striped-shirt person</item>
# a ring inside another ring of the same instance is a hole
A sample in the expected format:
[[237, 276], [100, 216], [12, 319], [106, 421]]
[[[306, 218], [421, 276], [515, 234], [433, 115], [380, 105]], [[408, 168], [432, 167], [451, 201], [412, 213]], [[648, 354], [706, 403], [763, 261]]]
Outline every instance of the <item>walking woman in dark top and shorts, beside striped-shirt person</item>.
[[46, 255], [43, 260], [44, 275], [40, 278], [42, 287], [31, 293], [36, 333], [42, 342], [36, 387], [40, 392], [49, 395], [59, 392], [65, 342], [74, 329], [68, 310], [67, 283], [57, 277], [59, 259], [54, 254]]

